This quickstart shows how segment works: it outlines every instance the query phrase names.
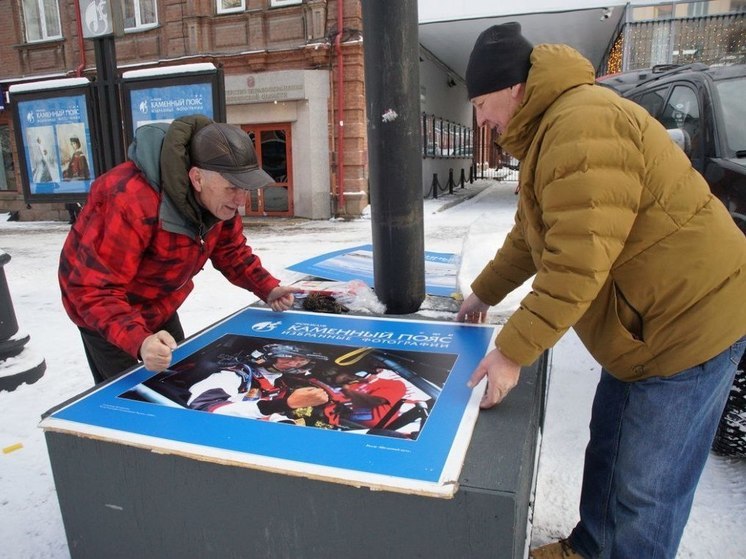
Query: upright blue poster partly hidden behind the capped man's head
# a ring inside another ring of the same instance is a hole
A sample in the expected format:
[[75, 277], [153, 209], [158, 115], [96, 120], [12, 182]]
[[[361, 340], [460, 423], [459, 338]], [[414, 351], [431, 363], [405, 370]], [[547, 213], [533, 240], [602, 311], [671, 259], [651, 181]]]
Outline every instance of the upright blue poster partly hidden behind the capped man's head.
[[201, 114], [215, 118], [211, 83], [133, 89], [130, 107], [133, 132], [143, 124], [170, 123], [180, 116]]

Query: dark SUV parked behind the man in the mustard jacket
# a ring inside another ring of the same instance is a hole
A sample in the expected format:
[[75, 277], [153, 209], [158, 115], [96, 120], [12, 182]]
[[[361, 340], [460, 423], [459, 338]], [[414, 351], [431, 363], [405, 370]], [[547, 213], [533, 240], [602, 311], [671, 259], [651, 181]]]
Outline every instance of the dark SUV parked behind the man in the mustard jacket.
[[[746, 234], [746, 64], [655, 66], [597, 83], [642, 105], [666, 127]], [[718, 454], [746, 458], [745, 368], [746, 356], [713, 443]]]

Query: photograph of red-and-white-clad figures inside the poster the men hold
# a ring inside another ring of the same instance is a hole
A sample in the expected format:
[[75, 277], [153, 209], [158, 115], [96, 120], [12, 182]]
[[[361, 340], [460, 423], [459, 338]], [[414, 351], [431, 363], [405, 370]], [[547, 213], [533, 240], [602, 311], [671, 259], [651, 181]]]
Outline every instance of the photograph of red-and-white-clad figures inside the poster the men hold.
[[416, 439], [455, 360], [448, 354], [228, 334], [121, 397]]

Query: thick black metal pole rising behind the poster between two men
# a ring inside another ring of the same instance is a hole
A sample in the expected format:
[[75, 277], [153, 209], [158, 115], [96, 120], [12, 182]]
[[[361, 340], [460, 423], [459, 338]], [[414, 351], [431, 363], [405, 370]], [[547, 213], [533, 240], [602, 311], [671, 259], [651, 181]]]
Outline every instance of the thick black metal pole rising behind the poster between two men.
[[425, 299], [416, 0], [363, 0], [373, 276], [388, 314]]

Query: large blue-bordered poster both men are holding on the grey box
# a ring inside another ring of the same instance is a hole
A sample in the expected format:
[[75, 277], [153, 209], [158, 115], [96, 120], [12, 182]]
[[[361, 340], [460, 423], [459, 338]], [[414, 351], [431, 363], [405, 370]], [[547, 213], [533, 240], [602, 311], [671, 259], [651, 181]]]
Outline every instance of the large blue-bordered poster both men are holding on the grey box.
[[494, 326], [246, 308], [42, 427], [248, 467], [452, 496]]

